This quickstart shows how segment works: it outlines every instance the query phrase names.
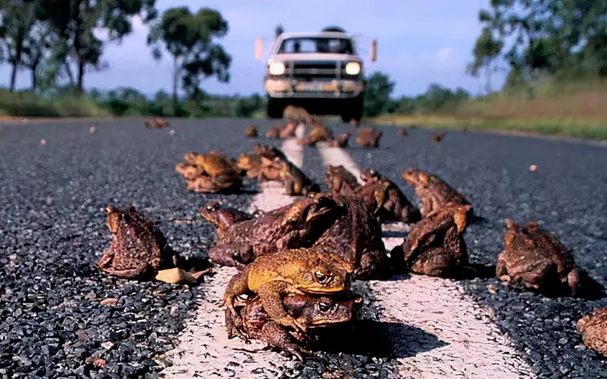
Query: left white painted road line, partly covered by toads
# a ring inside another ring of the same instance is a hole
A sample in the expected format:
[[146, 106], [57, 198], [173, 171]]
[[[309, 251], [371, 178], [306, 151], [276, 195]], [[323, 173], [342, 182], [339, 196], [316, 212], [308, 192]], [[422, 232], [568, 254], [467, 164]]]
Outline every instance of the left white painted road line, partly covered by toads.
[[[305, 128], [296, 129], [298, 138]], [[299, 168], [304, 161], [304, 148], [295, 138], [285, 140], [282, 150], [287, 159]], [[284, 186], [264, 186], [262, 193], [253, 197], [251, 211], [273, 210], [293, 203], [297, 197], [284, 194]], [[240, 338], [228, 340], [225, 327], [225, 312], [219, 306], [229, 279], [238, 272], [233, 267], [220, 267], [215, 275], [205, 278], [200, 285], [203, 295], [193, 318], [186, 323], [179, 335], [179, 344], [165, 355], [173, 362], [161, 374], [166, 378], [276, 378], [287, 369], [293, 369], [294, 358], [285, 358], [279, 353], [262, 350], [267, 344], [251, 340], [245, 344]]]

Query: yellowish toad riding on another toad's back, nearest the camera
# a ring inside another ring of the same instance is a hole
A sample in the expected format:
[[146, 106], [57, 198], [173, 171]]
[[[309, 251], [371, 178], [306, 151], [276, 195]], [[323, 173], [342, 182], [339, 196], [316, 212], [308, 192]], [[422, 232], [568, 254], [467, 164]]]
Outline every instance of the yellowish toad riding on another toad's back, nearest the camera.
[[290, 294], [331, 295], [350, 287], [354, 268], [335, 254], [314, 248], [283, 250], [259, 256], [230, 279], [223, 303], [232, 315], [236, 296], [253, 292], [268, 316], [282, 326], [305, 332], [307, 326], [289, 315], [283, 298]]

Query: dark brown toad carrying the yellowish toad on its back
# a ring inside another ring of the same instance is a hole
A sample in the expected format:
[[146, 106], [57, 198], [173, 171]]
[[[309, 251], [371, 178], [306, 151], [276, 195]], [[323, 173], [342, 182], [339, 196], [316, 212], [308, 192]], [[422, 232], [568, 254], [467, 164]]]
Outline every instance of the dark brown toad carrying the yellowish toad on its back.
[[[314, 329], [355, 319], [356, 307], [361, 304], [362, 297], [348, 292], [334, 297], [288, 293], [282, 302], [288, 315]], [[308, 333], [300, 333], [280, 326], [265, 312], [259, 296], [253, 296], [246, 300], [245, 305], [238, 306], [237, 314], [239, 317], [234, 317], [228, 309], [225, 311], [228, 338], [239, 336], [247, 343], [248, 338], [254, 338], [286, 350], [303, 360], [300, 351], [304, 352], [308, 347], [311, 330]]]

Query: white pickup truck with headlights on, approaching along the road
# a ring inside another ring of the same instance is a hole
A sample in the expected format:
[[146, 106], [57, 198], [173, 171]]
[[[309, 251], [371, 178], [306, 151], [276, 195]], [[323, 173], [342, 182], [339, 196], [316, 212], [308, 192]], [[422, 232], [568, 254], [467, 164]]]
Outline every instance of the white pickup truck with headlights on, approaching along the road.
[[[258, 39], [256, 44], [256, 58], [262, 59], [262, 43]], [[376, 49], [374, 40], [371, 61]], [[264, 78], [268, 117], [281, 118], [291, 104], [311, 114], [359, 121], [365, 96], [362, 66], [354, 39], [347, 33], [280, 34], [272, 44]]]

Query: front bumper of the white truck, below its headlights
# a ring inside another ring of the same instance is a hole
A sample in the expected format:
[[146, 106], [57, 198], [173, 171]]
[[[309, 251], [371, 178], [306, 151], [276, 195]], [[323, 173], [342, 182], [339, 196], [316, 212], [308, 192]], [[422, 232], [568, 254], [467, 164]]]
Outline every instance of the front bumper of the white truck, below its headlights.
[[362, 81], [298, 81], [287, 78], [265, 78], [263, 86], [274, 98], [355, 98], [364, 91]]

